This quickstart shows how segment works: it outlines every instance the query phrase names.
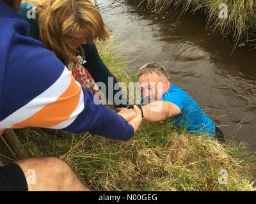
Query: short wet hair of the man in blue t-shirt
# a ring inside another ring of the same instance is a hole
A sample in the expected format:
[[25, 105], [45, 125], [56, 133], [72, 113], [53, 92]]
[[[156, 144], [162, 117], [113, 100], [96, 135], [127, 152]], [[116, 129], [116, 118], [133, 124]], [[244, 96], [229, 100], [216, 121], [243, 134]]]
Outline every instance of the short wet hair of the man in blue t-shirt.
[[152, 74], [153, 72], [157, 73], [157, 75], [159, 76], [168, 77], [166, 68], [164, 68], [164, 66], [158, 62], [150, 62], [143, 65], [140, 68], [138, 77], [140, 77], [141, 75], [148, 75], [148, 73]]

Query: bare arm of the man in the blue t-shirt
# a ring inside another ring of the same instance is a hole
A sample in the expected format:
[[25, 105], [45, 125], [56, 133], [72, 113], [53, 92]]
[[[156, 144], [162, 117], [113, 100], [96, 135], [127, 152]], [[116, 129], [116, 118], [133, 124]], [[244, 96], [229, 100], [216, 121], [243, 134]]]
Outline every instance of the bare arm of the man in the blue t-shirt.
[[157, 122], [168, 119], [180, 113], [180, 108], [170, 102], [156, 101], [142, 106], [144, 118], [149, 122]]

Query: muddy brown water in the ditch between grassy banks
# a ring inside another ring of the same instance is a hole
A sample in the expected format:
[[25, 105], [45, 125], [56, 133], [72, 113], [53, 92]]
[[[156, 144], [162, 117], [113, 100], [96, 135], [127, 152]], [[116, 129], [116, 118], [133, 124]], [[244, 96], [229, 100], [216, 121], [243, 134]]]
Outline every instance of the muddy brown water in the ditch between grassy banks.
[[256, 50], [237, 48], [205, 29], [205, 19], [153, 13], [129, 0], [98, 0], [128, 72], [150, 61], [168, 68], [171, 82], [215, 120], [226, 138], [256, 150]]

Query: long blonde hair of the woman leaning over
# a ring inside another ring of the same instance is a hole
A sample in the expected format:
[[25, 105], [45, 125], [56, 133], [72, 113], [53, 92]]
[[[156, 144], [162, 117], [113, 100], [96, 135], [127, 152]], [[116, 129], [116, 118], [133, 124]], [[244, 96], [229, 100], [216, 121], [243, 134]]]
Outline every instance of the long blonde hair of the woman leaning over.
[[73, 44], [79, 29], [88, 33], [88, 43], [110, 39], [100, 11], [90, 0], [32, 0], [31, 3], [35, 4], [40, 41], [65, 63], [76, 59], [79, 53], [84, 55], [83, 47], [77, 49]]

